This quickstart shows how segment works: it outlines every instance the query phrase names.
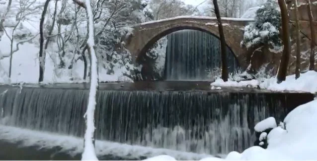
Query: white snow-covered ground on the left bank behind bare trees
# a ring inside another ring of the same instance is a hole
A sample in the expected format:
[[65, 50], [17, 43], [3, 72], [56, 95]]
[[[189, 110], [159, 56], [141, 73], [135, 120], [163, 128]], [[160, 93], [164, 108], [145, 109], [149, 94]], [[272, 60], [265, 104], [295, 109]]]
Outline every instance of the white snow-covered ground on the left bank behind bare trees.
[[[10, 29], [7, 28], [8, 32]], [[5, 35], [0, 41], [1, 53], [10, 52], [10, 40]], [[6, 47], [6, 48], [3, 48]], [[11, 83], [38, 83], [39, 78], [39, 47], [35, 44], [24, 43], [19, 46], [19, 50], [12, 56], [12, 74]], [[78, 60], [73, 69], [65, 69], [64, 73], [59, 73], [55, 68], [55, 63], [47, 53], [45, 73], [43, 83], [80, 83], [84, 82], [83, 78], [83, 61]], [[8, 82], [9, 57], [0, 59], [0, 83]], [[59, 73], [59, 74], [57, 74]], [[106, 74], [104, 68], [99, 68], [99, 81], [115, 82], [115, 81], [131, 81], [125, 76], [121, 69], [114, 71], [114, 74]], [[59, 76], [57, 76], [59, 75]], [[71, 81], [70, 79], [74, 80]]]

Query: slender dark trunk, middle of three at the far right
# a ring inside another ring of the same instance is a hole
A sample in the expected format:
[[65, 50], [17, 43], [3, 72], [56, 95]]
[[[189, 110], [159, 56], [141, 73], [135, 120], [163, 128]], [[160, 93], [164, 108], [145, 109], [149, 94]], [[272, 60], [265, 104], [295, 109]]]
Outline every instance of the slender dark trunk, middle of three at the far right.
[[300, 41], [300, 24], [298, 22], [298, 5], [297, 0], [295, 3], [295, 21], [296, 21], [296, 69], [295, 69], [295, 79], [300, 77], [301, 72], [301, 41]]

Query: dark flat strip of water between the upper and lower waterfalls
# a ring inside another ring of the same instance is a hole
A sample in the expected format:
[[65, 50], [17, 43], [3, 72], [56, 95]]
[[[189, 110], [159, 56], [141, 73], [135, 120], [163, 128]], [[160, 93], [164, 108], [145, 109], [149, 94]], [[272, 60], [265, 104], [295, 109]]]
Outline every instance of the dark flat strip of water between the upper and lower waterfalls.
[[[89, 83], [56, 83], [56, 84], [24, 84], [23, 88], [49, 89], [89, 89]], [[19, 85], [0, 85], [0, 87], [19, 87]], [[298, 91], [271, 91], [249, 87], [221, 87], [221, 90], [211, 90], [209, 81], [137, 81], [99, 83], [98, 90], [115, 91], [202, 91], [202, 92], [229, 92], [229, 93], [305, 93]]]

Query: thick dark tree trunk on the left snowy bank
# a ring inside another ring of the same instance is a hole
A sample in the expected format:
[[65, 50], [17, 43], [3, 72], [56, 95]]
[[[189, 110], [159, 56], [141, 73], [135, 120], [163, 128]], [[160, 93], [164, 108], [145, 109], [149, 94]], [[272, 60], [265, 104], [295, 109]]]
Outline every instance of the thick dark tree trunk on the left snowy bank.
[[40, 20], [40, 54], [39, 54], [39, 63], [40, 63], [40, 75], [39, 75], [39, 82], [43, 82], [44, 79], [44, 70], [45, 70], [45, 57], [43, 56], [43, 46], [44, 46], [44, 34], [43, 34], [43, 25], [44, 25], [44, 18], [48, 8], [50, 0], [46, 0], [44, 4], [44, 9], [41, 15]]

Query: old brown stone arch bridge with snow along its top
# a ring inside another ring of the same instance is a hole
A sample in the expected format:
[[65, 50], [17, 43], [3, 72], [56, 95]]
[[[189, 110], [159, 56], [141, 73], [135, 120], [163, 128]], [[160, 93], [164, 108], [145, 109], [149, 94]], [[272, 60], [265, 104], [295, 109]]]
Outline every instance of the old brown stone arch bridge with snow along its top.
[[[247, 51], [240, 47], [244, 27], [253, 19], [222, 18], [227, 46], [238, 59], [241, 67], [246, 67]], [[131, 26], [133, 31], [124, 38], [126, 49], [138, 60], [162, 37], [179, 30], [191, 29], [210, 33], [219, 38], [216, 17], [178, 16], [150, 21]]]

